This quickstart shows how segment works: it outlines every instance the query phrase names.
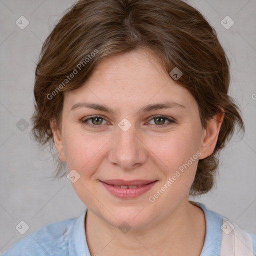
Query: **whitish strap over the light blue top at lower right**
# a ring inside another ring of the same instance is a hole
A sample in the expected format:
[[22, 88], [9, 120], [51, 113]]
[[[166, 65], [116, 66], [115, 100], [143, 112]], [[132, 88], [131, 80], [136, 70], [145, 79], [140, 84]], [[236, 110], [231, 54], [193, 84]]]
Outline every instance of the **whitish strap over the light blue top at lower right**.
[[251, 236], [234, 222], [222, 219], [222, 239], [219, 256], [253, 256]]

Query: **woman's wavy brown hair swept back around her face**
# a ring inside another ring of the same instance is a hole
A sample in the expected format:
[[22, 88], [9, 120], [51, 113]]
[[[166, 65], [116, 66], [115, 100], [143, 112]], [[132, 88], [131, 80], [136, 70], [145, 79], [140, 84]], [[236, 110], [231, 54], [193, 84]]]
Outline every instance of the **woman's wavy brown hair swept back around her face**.
[[[167, 73], [174, 67], [182, 71], [176, 82], [195, 98], [203, 127], [220, 107], [224, 109], [214, 151], [198, 161], [189, 191], [205, 193], [214, 184], [219, 150], [233, 135], [235, 123], [243, 133], [244, 124], [227, 95], [230, 63], [216, 31], [181, 0], [79, 0], [72, 5], [42, 46], [35, 70], [32, 135], [41, 146], [48, 142], [53, 147], [49, 120], [60, 129], [63, 91], [82, 86], [107, 56], [139, 47], [152, 50]], [[61, 163], [57, 162], [55, 177], [65, 175], [59, 175]]]

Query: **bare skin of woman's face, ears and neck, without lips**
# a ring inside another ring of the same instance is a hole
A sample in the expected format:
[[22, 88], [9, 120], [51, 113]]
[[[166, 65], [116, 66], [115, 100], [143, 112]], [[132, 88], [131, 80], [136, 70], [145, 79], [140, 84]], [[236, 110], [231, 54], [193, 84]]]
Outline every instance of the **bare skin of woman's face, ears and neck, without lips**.
[[[138, 112], [146, 104], [165, 100], [185, 108]], [[112, 112], [70, 110], [81, 101], [103, 104]], [[99, 128], [82, 123], [97, 114], [105, 120], [87, 123]], [[176, 122], [161, 122], [153, 118], [157, 115]], [[127, 131], [118, 126], [123, 118], [131, 124]], [[205, 218], [201, 208], [188, 202], [189, 188], [198, 159], [213, 152], [222, 119], [223, 114], [215, 115], [202, 128], [195, 99], [147, 49], [105, 58], [83, 86], [64, 92], [61, 130], [53, 120], [50, 124], [59, 159], [68, 171], [75, 169], [80, 175], [72, 186], [87, 207], [85, 233], [91, 255], [200, 254]], [[154, 202], [149, 201], [196, 151], [200, 156]], [[136, 198], [120, 199], [98, 181], [112, 178], [158, 181]], [[123, 221], [130, 227], [126, 233], [118, 228]]]

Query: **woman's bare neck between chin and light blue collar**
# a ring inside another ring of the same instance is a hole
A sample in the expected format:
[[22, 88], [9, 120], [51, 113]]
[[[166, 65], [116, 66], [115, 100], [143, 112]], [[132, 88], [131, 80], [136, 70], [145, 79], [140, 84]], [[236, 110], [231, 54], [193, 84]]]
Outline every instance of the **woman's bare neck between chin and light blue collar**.
[[[91, 255], [193, 256], [201, 252], [205, 220], [202, 209], [185, 198], [161, 221], [126, 233], [87, 210], [85, 233]], [[191, 253], [191, 248], [196, 249]]]

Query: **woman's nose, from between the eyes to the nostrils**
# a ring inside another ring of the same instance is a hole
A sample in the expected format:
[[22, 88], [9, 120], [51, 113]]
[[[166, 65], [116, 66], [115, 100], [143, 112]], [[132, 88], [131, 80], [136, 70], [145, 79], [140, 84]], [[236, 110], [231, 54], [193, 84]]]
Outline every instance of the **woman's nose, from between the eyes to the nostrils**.
[[112, 140], [109, 161], [124, 170], [133, 170], [146, 161], [147, 152], [141, 133], [131, 125], [126, 131], [119, 126]]

